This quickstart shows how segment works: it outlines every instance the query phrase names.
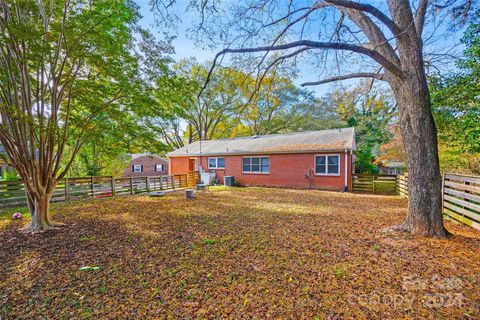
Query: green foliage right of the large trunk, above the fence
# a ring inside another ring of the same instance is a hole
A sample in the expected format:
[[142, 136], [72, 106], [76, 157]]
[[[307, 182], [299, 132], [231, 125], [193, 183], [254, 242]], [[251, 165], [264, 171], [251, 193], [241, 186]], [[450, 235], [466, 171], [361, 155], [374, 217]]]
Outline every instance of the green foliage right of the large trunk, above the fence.
[[462, 42], [466, 49], [459, 71], [430, 79], [432, 108], [442, 168], [480, 174], [480, 11]]

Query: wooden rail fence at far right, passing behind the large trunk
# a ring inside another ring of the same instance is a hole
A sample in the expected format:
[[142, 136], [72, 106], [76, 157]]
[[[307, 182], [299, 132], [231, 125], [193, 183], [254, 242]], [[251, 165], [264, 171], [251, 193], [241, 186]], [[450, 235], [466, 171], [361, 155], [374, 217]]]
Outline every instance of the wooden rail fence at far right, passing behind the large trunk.
[[[408, 198], [408, 175], [398, 181], [400, 195]], [[442, 199], [447, 217], [480, 229], [480, 176], [444, 174]]]

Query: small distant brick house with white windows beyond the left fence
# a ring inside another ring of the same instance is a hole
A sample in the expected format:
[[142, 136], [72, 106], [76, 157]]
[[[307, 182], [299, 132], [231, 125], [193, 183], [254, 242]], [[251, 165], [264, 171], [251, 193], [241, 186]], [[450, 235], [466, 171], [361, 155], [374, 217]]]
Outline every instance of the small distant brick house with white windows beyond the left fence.
[[122, 177], [145, 177], [168, 174], [168, 161], [149, 154], [134, 154]]

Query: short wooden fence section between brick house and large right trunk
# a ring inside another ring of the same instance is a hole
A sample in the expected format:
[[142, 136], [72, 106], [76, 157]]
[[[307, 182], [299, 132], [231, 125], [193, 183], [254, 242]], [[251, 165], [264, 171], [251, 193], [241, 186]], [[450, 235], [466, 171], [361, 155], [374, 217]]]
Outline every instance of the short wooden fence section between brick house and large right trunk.
[[390, 174], [354, 174], [353, 191], [381, 194], [397, 193], [397, 176]]

